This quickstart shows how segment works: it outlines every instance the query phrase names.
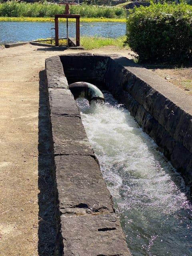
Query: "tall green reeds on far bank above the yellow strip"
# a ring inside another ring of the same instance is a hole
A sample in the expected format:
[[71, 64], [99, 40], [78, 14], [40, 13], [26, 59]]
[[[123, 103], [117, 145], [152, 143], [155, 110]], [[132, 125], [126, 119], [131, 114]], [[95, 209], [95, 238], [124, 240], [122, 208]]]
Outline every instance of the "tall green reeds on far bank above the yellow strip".
[[[45, 3], [26, 3], [8, 1], [0, 3], [2, 17], [54, 17], [54, 14], [63, 14], [64, 5]], [[71, 14], [80, 14], [86, 18], [125, 18], [126, 10], [110, 6], [93, 6], [87, 4], [71, 5]]]

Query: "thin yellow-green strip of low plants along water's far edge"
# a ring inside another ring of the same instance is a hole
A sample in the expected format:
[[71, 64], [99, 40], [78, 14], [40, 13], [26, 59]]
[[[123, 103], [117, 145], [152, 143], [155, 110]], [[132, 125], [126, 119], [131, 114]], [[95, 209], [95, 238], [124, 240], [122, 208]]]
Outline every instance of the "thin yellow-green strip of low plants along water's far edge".
[[[66, 19], [59, 19], [59, 21], [65, 21]], [[54, 18], [46, 17], [0, 17], [0, 21], [28, 21], [28, 22], [54, 22]], [[69, 22], [75, 22], [75, 19], [69, 19]], [[126, 22], [123, 18], [82, 18], [80, 17], [80, 22]]]

